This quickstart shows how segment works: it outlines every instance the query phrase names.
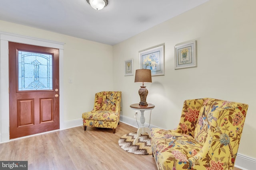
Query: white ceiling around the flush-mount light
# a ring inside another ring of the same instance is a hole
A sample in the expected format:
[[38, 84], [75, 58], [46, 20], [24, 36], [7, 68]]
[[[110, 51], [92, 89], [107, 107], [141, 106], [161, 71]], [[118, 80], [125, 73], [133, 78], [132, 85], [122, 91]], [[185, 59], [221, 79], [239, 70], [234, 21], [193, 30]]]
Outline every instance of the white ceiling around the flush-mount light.
[[[208, 0], [0, 0], [0, 20], [115, 45]], [[1, 25], [0, 25], [1, 27]]]

